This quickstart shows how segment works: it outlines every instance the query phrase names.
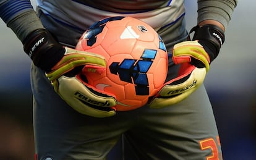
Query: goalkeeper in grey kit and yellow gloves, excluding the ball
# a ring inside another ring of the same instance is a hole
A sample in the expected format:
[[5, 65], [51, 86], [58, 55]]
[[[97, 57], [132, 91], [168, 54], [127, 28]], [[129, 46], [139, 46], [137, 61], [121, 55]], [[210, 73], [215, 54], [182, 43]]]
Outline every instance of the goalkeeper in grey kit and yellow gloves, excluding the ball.
[[[236, 0], [198, 0], [192, 37], [179, 0], [37, 2], [35, 12], [29, 0], [0, 0], [1, 19], [33, 62], [35, 159], [105, 159], [121, 137], [124, 159], [221, 159], [202, 83], [224, 43]], [[116, 112], [116, 99], [75, 77], [84, 65], [106, 65], [102, 56], [73, 49], [82, 33], [100, 19], [119, 15], [151, 25], [169, 51], [168, 76], [158, 96], [127, 112]]]

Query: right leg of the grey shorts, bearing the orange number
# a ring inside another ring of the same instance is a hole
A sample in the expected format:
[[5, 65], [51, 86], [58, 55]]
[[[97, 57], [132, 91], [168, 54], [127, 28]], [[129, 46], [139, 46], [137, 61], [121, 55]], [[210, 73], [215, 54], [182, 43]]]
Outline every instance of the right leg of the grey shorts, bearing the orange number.
[[136, 127], [124, 135], [125, 157], [221, 159], [215, 117], [203, 86], [179, 104], [138, 111]]

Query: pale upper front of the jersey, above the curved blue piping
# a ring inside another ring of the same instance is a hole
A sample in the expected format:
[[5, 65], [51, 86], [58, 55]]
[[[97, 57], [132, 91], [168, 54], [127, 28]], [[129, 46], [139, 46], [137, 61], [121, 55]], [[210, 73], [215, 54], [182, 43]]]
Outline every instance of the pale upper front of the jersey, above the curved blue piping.
[[37, 2], [38, 8], [43, 13], [61, 23], [82, 29], [106, 17], [131, 16], [143, 20], [157, 31], [175, 23], [185, 14], [184, 1], [178, 0], [37, 0]]

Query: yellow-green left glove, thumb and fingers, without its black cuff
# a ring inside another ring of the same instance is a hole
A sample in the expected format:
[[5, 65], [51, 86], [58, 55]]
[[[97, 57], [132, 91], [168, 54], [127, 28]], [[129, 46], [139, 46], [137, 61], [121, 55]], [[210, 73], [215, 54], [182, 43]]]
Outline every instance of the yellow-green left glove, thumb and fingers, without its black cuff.
[[54, 90], [76, 111], [92, 117], [109, 117], [116, 114], [116, 99], [111, 95], [98, 93], [90, 86], [82, 83], [80, 74], [67, 76], [69, 71], [83, 65], [95, 65], [105, 68], [103, 56], [65, 48], [66, 53], [54, 67], [46, 74]]

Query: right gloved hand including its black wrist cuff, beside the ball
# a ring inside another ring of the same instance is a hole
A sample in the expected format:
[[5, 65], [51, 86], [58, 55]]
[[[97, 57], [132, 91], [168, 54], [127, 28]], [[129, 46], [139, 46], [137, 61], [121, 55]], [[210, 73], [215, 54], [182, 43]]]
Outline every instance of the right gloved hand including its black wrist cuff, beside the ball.
[[176, 78], [166, 82], [149, 105], [162, 108], [179, 103], [191, 95], [200, 85], [210, 68], [210, 62], [218, 56], [224, 43], [224, 32], [215, 25], [194, 27], [192, 41], [177, 43], [173, 48], [173, 62], [181, 65]]

